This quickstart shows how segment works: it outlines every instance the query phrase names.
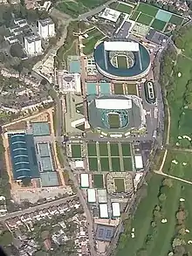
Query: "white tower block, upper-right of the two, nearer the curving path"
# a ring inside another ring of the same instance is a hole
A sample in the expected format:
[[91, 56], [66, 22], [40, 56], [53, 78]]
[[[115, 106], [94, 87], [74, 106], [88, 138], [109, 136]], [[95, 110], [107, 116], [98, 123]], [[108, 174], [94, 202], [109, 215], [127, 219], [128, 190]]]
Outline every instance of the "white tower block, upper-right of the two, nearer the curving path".
[[38, 21], [38, 34], [44, 39], [55, 37], [55, 24], [50, 17]]

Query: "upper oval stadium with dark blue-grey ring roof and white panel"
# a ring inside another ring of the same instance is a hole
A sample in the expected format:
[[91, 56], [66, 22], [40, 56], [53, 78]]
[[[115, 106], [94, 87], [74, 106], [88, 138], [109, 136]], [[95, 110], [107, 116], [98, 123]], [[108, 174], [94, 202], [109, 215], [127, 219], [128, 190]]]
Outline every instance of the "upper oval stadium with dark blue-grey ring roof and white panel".
[[113, 80], [138, 80], [151, 67], [147, 48], [135, 41], [104, 41], [94, 48], [99, 73]]

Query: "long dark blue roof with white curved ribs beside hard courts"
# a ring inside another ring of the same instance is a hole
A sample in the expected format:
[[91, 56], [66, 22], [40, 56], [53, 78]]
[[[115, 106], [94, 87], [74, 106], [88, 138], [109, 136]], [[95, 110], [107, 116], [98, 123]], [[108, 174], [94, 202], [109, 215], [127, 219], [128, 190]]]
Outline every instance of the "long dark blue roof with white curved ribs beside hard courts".
[[24, 177], [38, 178], [38, 162], [32, 135], [9, 134], [10, 157], [15, 180]]

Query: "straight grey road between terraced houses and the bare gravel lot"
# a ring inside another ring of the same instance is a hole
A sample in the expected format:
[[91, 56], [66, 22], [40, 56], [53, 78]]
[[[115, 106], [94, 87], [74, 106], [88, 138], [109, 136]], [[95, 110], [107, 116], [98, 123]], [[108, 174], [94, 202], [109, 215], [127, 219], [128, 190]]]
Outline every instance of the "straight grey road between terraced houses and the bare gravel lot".
[[70, 197], [60, 198], [58, 200], [51, 201], [51, 202], [45, 203], [45, 204], [39, 204], [37, 206], [32, 206], [28, 209], [24, 209], [24, 210], [21, 210], [21, 211], [14, 211], [14, 212], [11, 212], [11, 213], [7, 214], [6, 216], [0, 217], [0, 221], [4, 221], [4, 220], [9, 219], [9, 218], [19, 217], [19, 216], [24, 215], [25, 213], [31, 213], [31, 212], [42, 210], [42, 209], [45, 209], [45, 208], [50, 208], [51, 206], [57, 206], [59, 204], [64, 204], [66, 201], [72, 200], [74, 197], [77, 197], [77, 196], [73, 195], [73, 196], [70, 196]]

